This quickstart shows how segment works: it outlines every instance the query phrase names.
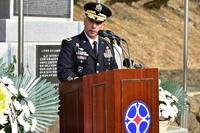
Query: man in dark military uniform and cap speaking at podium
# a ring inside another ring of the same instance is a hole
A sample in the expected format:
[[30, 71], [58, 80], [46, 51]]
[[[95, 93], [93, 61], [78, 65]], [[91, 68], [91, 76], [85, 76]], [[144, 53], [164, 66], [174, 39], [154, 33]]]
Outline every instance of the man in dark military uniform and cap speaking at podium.
[[101, 3], [84, 5], [84, 30], [79, 35], [62, 41], [58, 57], [58, 79], [63, 82], [91, 73], [117, 69], [113, 49], [98, 36], [111, 10]]

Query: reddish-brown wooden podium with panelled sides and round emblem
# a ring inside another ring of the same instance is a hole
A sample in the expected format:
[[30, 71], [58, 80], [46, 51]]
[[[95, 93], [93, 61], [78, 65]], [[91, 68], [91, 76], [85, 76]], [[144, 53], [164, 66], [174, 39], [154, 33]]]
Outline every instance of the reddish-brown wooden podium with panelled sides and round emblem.
[[[148, 133], [159, 132], [157, 68], [117, 69], [86, 75], [61, 83], [59, 93], [60, 133], [126, 133], [125, 114], [134, 101], [142, 101], [149, 109]], [[144, 127], [139, 117], [142, 115], [135, 115], [134, 122], [129, 123]]]

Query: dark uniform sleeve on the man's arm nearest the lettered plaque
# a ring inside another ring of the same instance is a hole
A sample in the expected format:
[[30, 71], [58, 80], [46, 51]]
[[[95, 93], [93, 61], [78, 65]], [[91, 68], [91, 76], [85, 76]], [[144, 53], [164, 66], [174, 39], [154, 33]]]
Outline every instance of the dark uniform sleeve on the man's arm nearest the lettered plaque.
[[60, 82], [76, 77], [74, 73], [75, 49], [71, 41], [63, 40], [57, 62], [57, 76]]

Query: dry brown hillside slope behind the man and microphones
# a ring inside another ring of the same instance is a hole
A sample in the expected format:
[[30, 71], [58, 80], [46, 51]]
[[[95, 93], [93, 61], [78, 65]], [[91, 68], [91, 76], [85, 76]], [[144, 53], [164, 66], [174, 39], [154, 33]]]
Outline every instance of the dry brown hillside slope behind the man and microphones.
[[[162, 76], [182, 82], [184, 3], [170, 0], [167, 7], [150, 10], [144, 2], [109, 5], [113, 16], [105, 29], [126, 39], [135, 63], [159, 68]], [[80, 14], [82, 6], [75, 5], [75, 21], [82, 21]], [[200, 5], [194, 2], [190, 2], [188, 26], [188, 84], [200, 86]]]

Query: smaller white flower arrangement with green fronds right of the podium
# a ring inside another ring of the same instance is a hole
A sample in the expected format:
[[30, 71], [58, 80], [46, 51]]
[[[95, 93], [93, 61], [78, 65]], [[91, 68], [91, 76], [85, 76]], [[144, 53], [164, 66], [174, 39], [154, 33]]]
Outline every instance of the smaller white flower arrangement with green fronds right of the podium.
[[174, 121], [187, 109], [187, 94], [175, 80], [159, 80], [159, 120]]

